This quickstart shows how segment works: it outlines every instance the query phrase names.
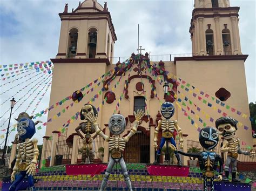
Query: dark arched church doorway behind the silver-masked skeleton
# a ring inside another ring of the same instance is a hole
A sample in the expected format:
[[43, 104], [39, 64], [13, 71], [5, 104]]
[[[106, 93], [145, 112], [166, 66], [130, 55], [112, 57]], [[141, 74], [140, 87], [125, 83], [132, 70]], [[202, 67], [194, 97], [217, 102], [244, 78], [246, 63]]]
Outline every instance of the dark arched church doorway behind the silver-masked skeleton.
[[138, 127], [126, 144], [124, 153], [125, 162], [150, 163], [150, 131], [144, 127]]

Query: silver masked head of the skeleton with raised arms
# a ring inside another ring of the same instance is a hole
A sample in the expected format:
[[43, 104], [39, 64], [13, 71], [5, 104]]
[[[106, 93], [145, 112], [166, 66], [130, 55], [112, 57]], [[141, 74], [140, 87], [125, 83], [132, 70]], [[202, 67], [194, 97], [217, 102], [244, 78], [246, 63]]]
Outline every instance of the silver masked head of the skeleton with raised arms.
[[109, 130], [114, 135], [124, 132], [126, 126], [125, 118], [120, 114], [113, 114], [109, 119]]

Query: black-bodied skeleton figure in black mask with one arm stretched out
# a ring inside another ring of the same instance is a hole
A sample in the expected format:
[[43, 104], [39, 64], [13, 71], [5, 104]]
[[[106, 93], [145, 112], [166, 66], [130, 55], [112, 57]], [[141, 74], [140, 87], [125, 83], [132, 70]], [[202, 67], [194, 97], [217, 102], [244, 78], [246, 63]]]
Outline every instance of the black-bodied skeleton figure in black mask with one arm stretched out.
[[210, 182], [211, 191], [214, 190], [213, 180], [214, 180], [214, 172], [217, 169], [218, 162], [220, 163], [220, 172], [218, 175], [218, 179], [222, 179], [223, 174], [223, 162], [220, 158], [219, 154], [212, 152], [212, 149], [217, 146], [219, 141], [219, 135], [215, 128], [205, 127], [201, 129], [199, 133], [199, 142], [202, 147], [206, 149], [206, 151], [199, 153], [184, 153], [182, 151], [178, 151], [178, 153], [183, 154], [185, 156], [191, 156], [194, 158], [198, 158], [199, 167], [203, 172], [204, 178], [204, 191], [208, 190], [208, 181]]

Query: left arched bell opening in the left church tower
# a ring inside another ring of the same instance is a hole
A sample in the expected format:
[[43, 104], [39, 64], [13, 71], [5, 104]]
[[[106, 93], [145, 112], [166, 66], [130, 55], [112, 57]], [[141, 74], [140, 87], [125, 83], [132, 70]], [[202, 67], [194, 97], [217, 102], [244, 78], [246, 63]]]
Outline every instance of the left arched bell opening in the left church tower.
[[69, 31], [68, 58], [73, 58], [77, 53], [78, 30], [73, 28]]

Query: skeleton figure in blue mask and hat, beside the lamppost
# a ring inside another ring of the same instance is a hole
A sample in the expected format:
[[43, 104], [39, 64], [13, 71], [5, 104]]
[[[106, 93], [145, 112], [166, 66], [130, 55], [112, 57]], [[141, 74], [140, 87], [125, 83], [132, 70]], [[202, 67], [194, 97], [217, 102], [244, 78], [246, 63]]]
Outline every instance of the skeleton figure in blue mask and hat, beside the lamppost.
[[[30, 186], [30, 190], [35, 190], [33, 185], [33, 175], [36, 173], [36, 163], [39, 155], [39, 151], [37, 148], [37, 139], [33, 138], [30, 140], [33, 135], [36, 133], [35, 123], [31, 120], [33, 116], [29, 116], [27, 113], [20, 113], [18, 116], [17, 123], [17, 131], [19, 139], [22, 141], [17, 145], [18, 147], [18, 155], [15, 162], [15, 166], [13, 168], [13, 172], [11, 174], [11, 182], [12, 185], [9, 190], [14, 191], [25, 176], [28, 177], [28, 182]], [[15, 178], [15, 174], [18, 172]]]

